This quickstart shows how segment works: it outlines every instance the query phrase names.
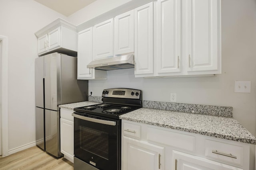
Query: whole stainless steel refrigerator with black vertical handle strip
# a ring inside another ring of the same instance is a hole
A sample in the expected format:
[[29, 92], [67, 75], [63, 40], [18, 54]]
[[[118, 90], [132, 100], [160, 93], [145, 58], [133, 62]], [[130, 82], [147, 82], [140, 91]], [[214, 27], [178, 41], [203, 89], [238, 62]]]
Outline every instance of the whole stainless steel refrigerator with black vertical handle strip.
[[76, 57], [52, 53], [36, 58], [35, 84], [36, 145], [60, 157], [58, 105], [87, 101], [88, 81], [77, 80]]

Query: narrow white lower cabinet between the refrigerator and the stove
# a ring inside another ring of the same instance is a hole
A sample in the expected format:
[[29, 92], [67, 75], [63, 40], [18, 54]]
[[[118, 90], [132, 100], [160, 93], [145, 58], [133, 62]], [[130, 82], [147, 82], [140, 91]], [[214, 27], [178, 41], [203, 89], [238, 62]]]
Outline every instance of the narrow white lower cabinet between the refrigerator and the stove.
[[74, 162], [74, 111], [60, 109], [60, 152], [64, 158]]

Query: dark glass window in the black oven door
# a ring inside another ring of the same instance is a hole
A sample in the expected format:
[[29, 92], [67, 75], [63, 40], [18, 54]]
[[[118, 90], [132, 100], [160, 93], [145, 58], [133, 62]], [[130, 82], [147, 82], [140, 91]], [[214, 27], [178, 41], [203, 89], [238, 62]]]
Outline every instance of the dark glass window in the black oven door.
[[81, 125], [79, 129], [81, 149], [108, 160], [108, 133]]

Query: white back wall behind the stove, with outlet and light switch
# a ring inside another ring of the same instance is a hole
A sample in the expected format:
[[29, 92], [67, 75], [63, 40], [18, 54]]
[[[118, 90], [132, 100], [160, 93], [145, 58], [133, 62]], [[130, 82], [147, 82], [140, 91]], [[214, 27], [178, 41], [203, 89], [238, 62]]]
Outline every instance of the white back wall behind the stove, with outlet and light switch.
[[[105, 7], [108, 10], [116, 7], [108, 2], [98, 0], [68, 19], [75, 24], [90, 20], [105, 12]], [[143, 100], [169, 102], [170, 93], [176, 92], [179, 103], [232, 106], [234, 118], [255, 135], [255, 75], [256, 1], [222, 0], [222, 74], [216, 77], [134, 78], [133, 69], [113, 70], [108, 71], [108, 80], [89, 80], [89, 92], [101, 96], [104, 88], [137, 88], [143, 90]], [[252, 81], [251, 93], [234, 93], [235, 80]]]

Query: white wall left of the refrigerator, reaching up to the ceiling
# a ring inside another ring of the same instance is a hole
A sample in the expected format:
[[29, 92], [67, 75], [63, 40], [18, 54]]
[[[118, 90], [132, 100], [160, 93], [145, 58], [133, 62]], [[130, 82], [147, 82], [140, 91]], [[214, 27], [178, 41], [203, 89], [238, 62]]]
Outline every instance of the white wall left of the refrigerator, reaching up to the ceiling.
[[34, 33], [65, 16], [34, 0], [0, 0], [0, 35], [8, 37], [8, 128], [9, 151], [34, 143], [35, 83]]

